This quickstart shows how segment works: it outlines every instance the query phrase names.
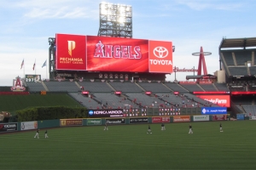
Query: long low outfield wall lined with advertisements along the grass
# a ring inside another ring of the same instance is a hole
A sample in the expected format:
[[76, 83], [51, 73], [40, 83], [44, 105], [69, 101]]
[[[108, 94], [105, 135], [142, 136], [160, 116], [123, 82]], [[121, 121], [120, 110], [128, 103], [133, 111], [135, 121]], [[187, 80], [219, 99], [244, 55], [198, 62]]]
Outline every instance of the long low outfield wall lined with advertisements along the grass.
[[[179, 123], [179, 122], [212, 122], [229, 121], [230, 115], [196, 115], [196, 116], [140, 116], [140, 117], [119, 117], [119, 118], [74, 118], [74, 119], [55, 119], [32, 122], [8, 122], [0, 123], [1, 133], [13, 133], [20, 131], [35, 130], [53, 127], [84, 127], [102, 126], [106, 123], [111, 125], [132, 125], [132, 124], [151, 124], [151, 123]], [[246, 120], [241, 118], [240, 120]], [[250, 117], [256, 120], [256, 117]]]

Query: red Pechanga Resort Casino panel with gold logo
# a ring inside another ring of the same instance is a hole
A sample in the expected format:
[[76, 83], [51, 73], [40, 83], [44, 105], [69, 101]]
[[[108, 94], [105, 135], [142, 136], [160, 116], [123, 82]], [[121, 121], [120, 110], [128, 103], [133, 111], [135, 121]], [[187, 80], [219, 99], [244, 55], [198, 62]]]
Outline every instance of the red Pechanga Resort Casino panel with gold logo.
[[56, 34], [56, 70], [86, 70], [85, 36]]

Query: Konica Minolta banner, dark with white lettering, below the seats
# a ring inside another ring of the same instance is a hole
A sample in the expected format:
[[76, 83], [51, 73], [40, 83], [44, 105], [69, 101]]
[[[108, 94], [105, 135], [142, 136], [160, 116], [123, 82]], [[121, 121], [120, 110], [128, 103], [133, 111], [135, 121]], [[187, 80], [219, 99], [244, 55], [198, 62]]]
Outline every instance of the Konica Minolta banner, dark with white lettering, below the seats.
[[123, 117], [125, 115], [122, 109], [88, 111], [88, 117]]

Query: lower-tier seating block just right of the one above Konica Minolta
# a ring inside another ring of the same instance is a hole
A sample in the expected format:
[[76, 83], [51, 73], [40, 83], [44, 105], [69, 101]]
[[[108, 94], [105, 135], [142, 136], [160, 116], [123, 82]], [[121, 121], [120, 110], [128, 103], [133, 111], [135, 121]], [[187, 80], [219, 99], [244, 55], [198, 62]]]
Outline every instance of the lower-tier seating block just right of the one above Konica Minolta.
[[150, 97], [146, 94], [126, 94], [131, 101], [134, 101], [138, 105], [143, 107], [159, 107], [165, 105], [164, 101], [161, 101], [157, 97]]

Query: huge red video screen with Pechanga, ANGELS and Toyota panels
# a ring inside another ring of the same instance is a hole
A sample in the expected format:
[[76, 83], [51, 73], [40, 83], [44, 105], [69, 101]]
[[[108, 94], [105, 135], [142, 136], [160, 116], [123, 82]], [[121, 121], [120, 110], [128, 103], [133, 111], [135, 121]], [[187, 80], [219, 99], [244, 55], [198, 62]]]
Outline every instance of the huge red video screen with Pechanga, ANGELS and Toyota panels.
[[56, 34], [56, 70], [172, 73], [172, 42]]

